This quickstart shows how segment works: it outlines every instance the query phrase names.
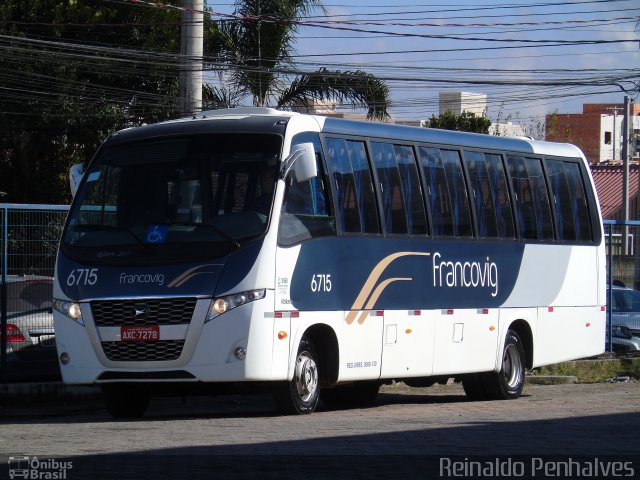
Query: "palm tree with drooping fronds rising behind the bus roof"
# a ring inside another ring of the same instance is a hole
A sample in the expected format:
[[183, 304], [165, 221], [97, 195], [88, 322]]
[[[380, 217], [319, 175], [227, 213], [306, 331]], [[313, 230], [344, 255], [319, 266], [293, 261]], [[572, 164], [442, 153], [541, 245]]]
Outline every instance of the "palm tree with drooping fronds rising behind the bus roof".
[[255, 106], [309, 108], [314, 100], [337, 100], [367, 108], [369, 118], [388, 117], [389, 89], [375, 76], [294, 68], [294, 21], [318, 7], [320, 0], [237, 0], [234, 14], [240, 20], [222, 20], [216, 32], [221, 59], [216, 68], [227, 86], [205, 87], [209, 103], [234, 106], [252, 96]]

